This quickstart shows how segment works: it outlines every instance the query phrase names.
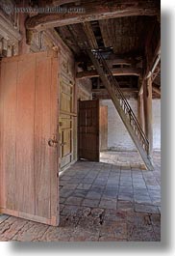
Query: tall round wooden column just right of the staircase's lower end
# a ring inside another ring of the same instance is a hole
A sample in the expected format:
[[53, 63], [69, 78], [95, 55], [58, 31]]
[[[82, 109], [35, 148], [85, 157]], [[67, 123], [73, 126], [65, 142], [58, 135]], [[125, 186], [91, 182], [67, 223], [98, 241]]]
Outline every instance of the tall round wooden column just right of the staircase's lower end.
[[149, 156], [153, 153], [153, 119], [152, 119], [152, 80], [147, 78], [144, 84], [145, 133], [149, 140]]

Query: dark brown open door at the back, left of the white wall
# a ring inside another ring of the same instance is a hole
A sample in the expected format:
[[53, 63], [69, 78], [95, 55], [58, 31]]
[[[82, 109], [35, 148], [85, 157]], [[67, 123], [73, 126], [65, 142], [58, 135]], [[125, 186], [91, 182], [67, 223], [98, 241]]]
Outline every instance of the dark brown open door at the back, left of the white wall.
[[79, 101], [79, 158], [99, 161], [99, 100]]

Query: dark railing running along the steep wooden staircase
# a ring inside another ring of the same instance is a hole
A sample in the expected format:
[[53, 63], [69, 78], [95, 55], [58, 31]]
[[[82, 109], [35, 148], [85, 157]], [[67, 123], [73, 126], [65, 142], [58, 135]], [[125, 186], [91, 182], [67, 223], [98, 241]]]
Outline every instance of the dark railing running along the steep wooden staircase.
[[112, 86], [112, 93], [116, 96], [120, 107], [128, 117], [130, 121], [130, 125], [135, 131], [138, 140], [140, 141], [142, 148], [146, 151], [147, 155], [149, 156], [149, 141], [146, 138], [146, 135], [142, 128], [140, 127], [139, 123], [137, 122], [137, 117], [135, 113], [133, 112], [130, 104], [128, 103], [128, 100], [126, 100], [125, 96], [123, 95], [123, 92], [121, 91], [121, 88], [112, 75], [112, 71], [109, 69], [105, 59], [103, 58], [102, 54], [97, 50], [91, 50], [95, 59], [98, 60], [102, 70], [106, 74], [107, 78], [110, 81], [110, 84]]

